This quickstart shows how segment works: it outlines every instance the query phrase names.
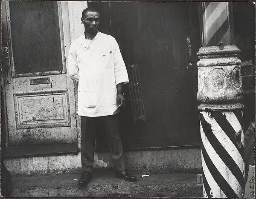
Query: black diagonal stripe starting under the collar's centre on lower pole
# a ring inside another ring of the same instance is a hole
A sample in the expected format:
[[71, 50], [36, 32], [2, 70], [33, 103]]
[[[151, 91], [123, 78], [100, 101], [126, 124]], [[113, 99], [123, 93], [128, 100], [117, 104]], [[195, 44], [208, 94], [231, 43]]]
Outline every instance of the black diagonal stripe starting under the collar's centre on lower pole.
[[244, 161], [244, 146], [241, 145], [241, 148], [236, 143], [236, 131], [233, 129], [233, 127], [230, 125], [230, 123], [227, 121], [226, 117], [221, 113], [221, 111], [212, 111], [212, 117], [216, 120], [218, 125], [221, 127], [221, 129], [227, 134], [229, 139], [233, 142], [233, 144], [236, 146], [237, 150], [241, 154], [241, 157]]

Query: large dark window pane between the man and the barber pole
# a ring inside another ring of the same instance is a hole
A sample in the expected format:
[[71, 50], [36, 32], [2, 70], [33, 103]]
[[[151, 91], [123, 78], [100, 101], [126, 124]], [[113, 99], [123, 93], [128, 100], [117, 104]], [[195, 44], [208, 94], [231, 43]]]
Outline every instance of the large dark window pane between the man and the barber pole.
[[[112, 27], [122, 27], [120, 43], [126, 66], [129, 70], [130, 65], [138, 64], [145, 113], [151, 109], [146, 120], [136, 124], [128, 124], [132, 120], [129, 110], [124, 110], [121, 134], [125, 148], [200, 143], [192, 81], [196, 66], [189, 65], [189, 6], [177, 2], [120, 3], [115, 11], [112, 6], [113, 15], [122, 10], [123, 23], [120, 18], [116, 22], [117, 17], [111, 19]], [[129, 92], [132, 96], [133, 89]], [[131, 100], [127, 104], [126, 108], [134, 106]]]

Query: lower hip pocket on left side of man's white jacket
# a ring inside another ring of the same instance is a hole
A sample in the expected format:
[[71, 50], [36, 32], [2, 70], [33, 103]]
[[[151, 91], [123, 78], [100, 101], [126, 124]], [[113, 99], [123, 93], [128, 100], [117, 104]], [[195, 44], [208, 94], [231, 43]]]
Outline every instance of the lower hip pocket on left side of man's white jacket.
[[96, 93], [93, 91], [78, 90], [78, 102], [81, 106], [93, 108], [97, 105]]

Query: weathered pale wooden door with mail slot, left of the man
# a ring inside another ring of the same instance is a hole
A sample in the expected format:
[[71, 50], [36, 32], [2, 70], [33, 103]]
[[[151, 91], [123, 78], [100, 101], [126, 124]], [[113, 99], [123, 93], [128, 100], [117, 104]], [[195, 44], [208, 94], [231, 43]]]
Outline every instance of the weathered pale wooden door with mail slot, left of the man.
[[2, 3], [9, 146], [77, 142], [67, 2]]

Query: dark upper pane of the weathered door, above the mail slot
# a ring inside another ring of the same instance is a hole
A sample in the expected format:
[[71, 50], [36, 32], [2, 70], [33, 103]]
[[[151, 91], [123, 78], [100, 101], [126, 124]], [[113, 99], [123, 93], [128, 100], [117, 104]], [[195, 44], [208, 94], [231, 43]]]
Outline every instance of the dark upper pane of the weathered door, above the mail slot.
[[62, 70], [57, 2], [10, 1], [9, 6], [15, 74]]

